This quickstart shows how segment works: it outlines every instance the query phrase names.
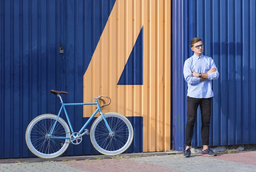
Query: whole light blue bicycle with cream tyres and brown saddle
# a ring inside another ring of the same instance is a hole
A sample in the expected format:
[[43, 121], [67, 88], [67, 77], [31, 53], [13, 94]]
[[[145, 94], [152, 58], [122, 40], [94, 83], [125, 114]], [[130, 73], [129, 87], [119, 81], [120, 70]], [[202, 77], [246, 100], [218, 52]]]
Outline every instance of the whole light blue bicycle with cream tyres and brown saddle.
[[[102, 113], [101, 108], [111, 103], [110, 97], [99, 95], [98, 97], [94, 97], [95, 102], [93, 103], [64, 103], [61, 94], [67, 95], [67, 92], [55, 90], [51, 90], [50, 92], [60, 98], [61, 109], [58, 115], [43, 114], [34, 118], [29, 123], [26, 129], [26, 144], [34, 155], [40, 158], [56, 158], [66, 151], [70, 143], [77, 145], [81, 143], [83, 135], [89, 134], [95, 149], [104, 155], [121, 154], [131, 145], [134, 131], [130, 121], [125, 116], [115, 112]], [[105, 104], [105, 100], [102, 97], [108, 98], [110, 100], [109, 103]], [[103, 101], [102, 106], [99, 105], [98, 99]], [[95, 112], [79, 132], [73, 131], [65, 108], [65, 106], [72, 105], [97, 106]], [[68, 124], [60, 117], [62, 110], [64, 110]], [[100, 116], [93, 122], [90, 131], [85, 129], [98, 112]], [[114, 127], [111, 127], [112, 124]], [[39, 128], [41, 125], [42, 128]], [[104, 130], [105, 133], [103, 133]], [[117, 138], [119, 136], [120, 138]]]

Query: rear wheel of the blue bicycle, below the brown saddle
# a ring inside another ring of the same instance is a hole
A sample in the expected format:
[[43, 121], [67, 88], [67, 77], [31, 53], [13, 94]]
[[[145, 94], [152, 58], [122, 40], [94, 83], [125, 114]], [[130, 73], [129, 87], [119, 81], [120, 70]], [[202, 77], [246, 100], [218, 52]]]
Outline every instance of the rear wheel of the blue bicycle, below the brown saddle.
[[[26, 143], [29, 150], [40, 158], [55, 158], [64, 153], [69, 146], [70, 139], [52, 139], [48, 137], [57, 116], [44, 114], [36, 117], [26, 129]], [[67, 123], [58, 118], [53, 137], [70, 137]]]

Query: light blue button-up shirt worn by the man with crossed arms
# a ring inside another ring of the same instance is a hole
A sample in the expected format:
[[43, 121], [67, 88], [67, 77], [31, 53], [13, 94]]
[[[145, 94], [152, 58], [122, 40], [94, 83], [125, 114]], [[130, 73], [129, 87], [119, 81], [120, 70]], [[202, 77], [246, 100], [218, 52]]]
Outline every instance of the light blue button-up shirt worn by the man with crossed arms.
[[201, 55], [193, 55], [189, 57], [183, 67], [183, 75], [185, 81], [188, 83], [187, 96], [194, 98], [209, 98], [213, 96], [212, 81], [217, 80], [219, 77], [218, 69], [216, 72], [208, 73], [208, 79], [200, 82], [200, 77], [193, 77], [192, 71], [198, 73], [207, 73], [210, 69], [216, 68], [214, 61], [211, 57]]

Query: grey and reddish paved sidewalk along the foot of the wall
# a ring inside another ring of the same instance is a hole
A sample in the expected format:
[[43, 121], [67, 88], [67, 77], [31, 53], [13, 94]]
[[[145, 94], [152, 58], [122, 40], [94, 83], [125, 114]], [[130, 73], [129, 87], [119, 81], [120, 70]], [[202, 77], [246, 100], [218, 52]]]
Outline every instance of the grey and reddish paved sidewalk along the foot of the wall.
[[2, 163], [0, 172], [255, 172], [256, 151], [233, 154], [218, 153], [216, 157], [162, 155], [120, 158], [49, 161], [39, 163]]

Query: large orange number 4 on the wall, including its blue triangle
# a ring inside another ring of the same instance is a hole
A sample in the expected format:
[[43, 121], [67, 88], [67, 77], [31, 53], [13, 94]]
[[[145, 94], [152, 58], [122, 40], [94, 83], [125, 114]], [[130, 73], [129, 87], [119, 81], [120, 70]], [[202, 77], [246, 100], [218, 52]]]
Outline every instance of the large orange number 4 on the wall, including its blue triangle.
[[[143, 152], [170, 149], [170, 8], [169, 0], [116, 0], [84, 74], [84, 102], [109, 95], [103, 112], [127, 116]], [[84, 117], [94, 110], [84, 106]]]

